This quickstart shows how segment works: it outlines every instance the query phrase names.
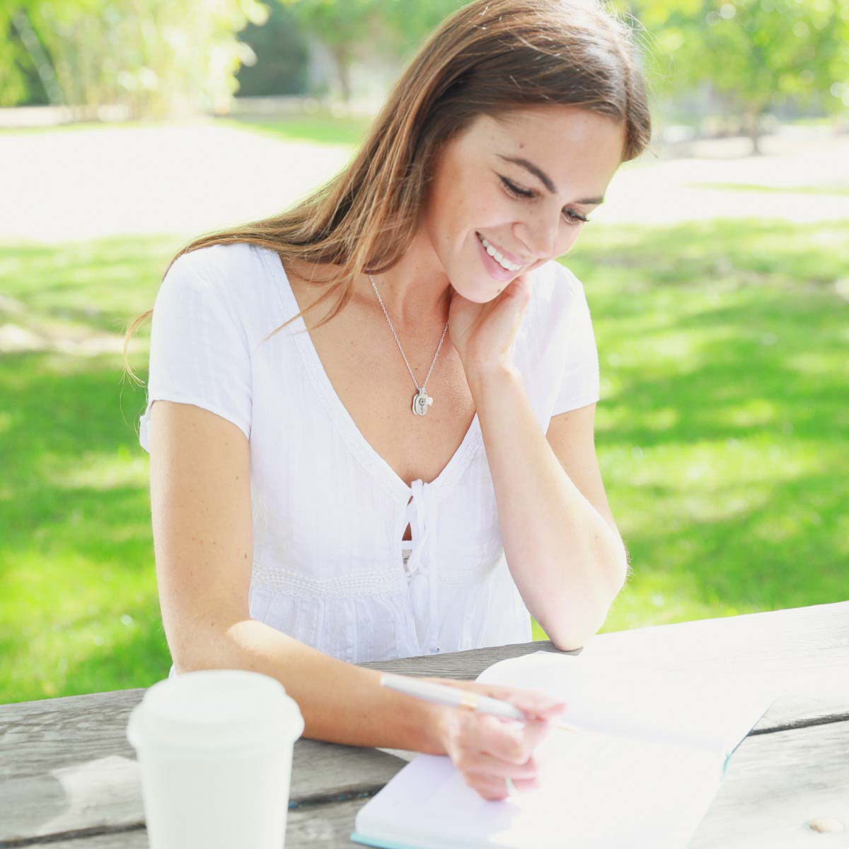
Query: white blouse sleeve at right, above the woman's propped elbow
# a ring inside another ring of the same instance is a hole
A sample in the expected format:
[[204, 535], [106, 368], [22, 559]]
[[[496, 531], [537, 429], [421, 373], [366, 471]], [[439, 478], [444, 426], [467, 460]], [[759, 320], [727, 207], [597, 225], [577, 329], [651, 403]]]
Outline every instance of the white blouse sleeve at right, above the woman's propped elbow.
[[[562, 267], [562, 266], [561, 266]], [[565, 362], [561, 372], [559, 393], [552, 415], [566, 413], [599, 401], [599, 351], [595, 344], [593, 320], [581, 281], [568, 268], [571, 285], [569, 316], [566, 319]]]

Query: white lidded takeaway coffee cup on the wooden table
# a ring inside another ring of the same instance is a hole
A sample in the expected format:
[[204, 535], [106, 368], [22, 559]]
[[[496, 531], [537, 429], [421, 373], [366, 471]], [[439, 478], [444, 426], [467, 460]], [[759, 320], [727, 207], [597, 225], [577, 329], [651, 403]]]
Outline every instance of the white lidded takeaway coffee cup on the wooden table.
[[281, 849], [292, 747], [304, 730], [276, 678], [184, 672], [132, 709], [150, 849]]

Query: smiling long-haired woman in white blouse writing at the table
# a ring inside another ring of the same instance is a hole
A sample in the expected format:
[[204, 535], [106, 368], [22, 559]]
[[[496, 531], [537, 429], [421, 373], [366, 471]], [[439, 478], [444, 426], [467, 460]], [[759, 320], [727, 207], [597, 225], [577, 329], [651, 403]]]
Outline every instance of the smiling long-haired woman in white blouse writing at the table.
[[587, 302], [556, 257], [649, 135], [627, 26], [479, 0], [339, 176], [175, 257], [128, 331], [152, 313], [140, 440], [171, 674], [271, 675], [307, 737], [447, 754], [486, 799], [533, 783], [562, 703], [431, 679], [531, 717], [503, 722], [356, 664], [529, 641], [531, 614], [574, 649], [604, 621], [627, 553]]

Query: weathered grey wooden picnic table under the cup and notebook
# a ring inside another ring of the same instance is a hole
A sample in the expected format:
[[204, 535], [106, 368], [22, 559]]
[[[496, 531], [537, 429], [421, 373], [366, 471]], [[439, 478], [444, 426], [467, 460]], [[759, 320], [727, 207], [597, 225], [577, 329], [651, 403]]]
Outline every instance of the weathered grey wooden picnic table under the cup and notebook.
[[[546, 641], [363, 666], [475, 678], [495, 661], [541, 649], [557, 650]], [[588, 658], [722, 670], [729, 683], [761, 680], [782, 693], [734, 751], [689, 849], [849, 846], [849, 601], [603, 634], [586, 650]], [[0, 847], [148, 846], [126, 737], [143, 694], [0, 706]], [[298, 740], [288, 849], [360, 846], [349, 840], [357, 811], [404, 766], [378, 749]]]

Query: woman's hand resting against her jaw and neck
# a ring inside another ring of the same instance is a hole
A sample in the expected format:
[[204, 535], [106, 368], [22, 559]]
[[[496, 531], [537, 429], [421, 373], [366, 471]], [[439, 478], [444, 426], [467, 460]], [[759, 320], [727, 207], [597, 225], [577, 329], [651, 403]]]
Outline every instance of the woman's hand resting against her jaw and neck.
[[512, 364], [511, 349], [530, 300], [527, 273], [514, 278], [500, 295], [483, 304], [451, 290], [448, 335], [467, 376], [499, 364]]

